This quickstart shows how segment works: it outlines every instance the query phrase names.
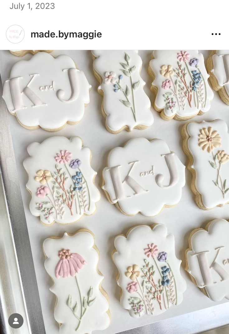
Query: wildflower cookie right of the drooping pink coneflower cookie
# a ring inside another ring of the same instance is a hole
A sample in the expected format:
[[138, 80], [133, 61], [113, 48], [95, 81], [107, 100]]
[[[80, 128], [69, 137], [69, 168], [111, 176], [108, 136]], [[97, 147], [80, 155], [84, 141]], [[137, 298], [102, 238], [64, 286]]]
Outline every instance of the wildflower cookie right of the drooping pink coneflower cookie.
[[132, 317], [159, 315], [183, 300], [186, 282], [165, 225], [139, 225], [114, 240], [112, 258], [122, 289], [120, 303]]

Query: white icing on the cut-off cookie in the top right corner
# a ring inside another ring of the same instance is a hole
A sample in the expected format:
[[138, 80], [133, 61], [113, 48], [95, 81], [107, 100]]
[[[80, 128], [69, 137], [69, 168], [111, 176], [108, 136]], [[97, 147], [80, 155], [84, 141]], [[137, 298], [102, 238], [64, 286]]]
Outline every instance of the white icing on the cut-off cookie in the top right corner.
[[229, 50], [217, 50], [212, 56], [212, 61], [211, 72], [215, 75], [219, 86], [224, 86], [229, 94]]

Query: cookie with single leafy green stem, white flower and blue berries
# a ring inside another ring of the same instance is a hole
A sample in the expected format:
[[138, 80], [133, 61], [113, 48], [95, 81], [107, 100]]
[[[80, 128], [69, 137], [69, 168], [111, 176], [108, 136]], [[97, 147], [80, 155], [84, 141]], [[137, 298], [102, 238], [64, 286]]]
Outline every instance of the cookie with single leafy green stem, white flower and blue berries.
[[146, 129], [153, 124], [150, 99], [140, 76], [142, 59], [136, 50], [93, 50], [93, 70], [103, 96], [102, 114], [111, 133]]

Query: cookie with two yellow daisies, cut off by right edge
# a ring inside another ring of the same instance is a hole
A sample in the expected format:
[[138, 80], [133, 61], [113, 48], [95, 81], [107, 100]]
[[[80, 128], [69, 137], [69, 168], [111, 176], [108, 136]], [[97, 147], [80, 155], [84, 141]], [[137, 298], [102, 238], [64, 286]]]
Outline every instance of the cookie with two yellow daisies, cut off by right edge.
[[229, 203], [229, 134], [222, 120], [191, 122], [182, 130], [192, 173], [192, 191], [201, 209]]

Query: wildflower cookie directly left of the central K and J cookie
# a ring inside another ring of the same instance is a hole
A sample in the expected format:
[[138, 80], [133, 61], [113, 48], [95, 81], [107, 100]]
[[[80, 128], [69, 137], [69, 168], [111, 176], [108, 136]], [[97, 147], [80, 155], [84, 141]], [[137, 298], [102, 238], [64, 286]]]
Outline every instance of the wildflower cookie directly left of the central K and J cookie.
[[72, 223], [95, 212], [100, 198], [94, 185], [97, 173], [90, 166], [91, 151], [79, 137], [50, 137], [30, 144], [28, 153], [24, 167], [32, 195], [29, 208], [43, 224]]

